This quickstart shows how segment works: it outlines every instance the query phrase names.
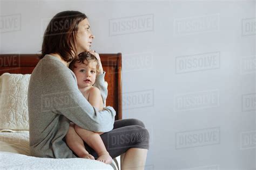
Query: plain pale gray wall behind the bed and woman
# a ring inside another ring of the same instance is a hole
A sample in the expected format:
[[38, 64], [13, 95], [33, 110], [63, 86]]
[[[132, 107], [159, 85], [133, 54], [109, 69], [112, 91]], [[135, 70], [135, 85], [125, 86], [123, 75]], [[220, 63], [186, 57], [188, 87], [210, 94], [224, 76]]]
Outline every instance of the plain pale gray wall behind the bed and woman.
[[[1, 1], [0, 53], [38, 53], [57, 12], [123, 54], [123, 118], [150, 131], [146, 169], [254, 169], [255, 1]], [[9, 24], [9, 25], [8, 25]]]

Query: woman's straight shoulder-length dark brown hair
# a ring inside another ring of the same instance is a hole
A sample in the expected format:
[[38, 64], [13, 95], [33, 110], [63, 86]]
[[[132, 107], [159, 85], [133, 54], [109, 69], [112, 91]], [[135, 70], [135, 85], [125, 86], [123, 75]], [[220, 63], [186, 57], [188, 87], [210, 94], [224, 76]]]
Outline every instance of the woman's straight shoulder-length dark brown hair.
[[69, 62], [78, 56], [76, 33], [78, 24], [86, 15], [79, 11], [63, 11], [57, 13], [48, 24], [42, 45], [42, 59], [45, 54], [57, 53]]

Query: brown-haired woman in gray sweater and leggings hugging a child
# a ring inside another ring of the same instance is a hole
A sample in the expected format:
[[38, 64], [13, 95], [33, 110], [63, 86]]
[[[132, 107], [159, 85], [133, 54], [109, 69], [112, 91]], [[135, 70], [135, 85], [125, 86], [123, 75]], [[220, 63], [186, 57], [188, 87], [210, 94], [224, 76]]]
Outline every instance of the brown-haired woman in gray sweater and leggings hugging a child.
[[[84, 13], [63, 11], [51, 19], [44, 33], [41, 60], [31, 74], [28, 89], [31, 155], [77, 158], [65, 141], [73, 122], [80, 127], [79, 134], [83, 129], [106, 132], [100, 137], [112, 158], [123, 154], [123, 169], [143, 169], [149, 149], [149, 132], [144, 124], [137, 119], [114, 121], [116, 112], [112, 107], [97, 111], [84, 99], [75, 74], [68, 68], [79, 53], [90, 51], [93, 38]], [[103, 101], [107, 96], [104, 76], [102, 70], [95, 82]], [[76, 131], [72, 126], [71, 130]], [[75, 133], [73, 138], [80, 137]], [[95, 151], [84, 145], [97, 157]]]

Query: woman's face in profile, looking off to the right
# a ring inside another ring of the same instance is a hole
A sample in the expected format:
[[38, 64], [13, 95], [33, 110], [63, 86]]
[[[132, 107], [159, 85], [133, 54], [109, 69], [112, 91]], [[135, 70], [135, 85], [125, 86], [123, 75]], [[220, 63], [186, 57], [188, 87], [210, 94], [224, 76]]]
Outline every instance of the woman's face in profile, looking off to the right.
[[93, 36], [91, 33], [90, 24], [87, 18], [78, 24], [78, 32], [76, 38], [78, 54], [90, 51], [92, 39], [95, 38], [95, 36]]

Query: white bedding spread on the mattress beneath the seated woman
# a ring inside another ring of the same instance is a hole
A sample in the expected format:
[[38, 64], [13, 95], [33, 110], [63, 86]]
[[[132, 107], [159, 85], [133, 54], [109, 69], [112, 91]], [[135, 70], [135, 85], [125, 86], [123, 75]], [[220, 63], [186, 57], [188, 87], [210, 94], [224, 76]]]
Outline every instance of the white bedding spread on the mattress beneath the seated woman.
[[14, 131], [0, 132], [0, 169], [117, 169], [117, 165], [82, 158], [31, 157], [29, 131]]

